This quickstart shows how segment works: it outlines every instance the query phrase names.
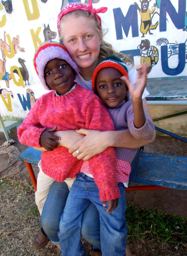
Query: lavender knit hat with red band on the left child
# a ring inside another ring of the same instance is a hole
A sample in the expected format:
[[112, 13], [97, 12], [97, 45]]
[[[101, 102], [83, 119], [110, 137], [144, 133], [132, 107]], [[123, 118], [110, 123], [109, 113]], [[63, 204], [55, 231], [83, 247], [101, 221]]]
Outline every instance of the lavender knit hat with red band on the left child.
[[47, 41], [39, 45], [37, 51], [34, 54], [34, 68], [39, 76], [40, 81], [47, 90], [51, 90], [46, 84], [44, 79], [44, 68], [47, 62], [53, 60], [54, 58], [59, 58], [66, 61], [71, 68], [74, 70], [74, 79], [79, 73], [79, 69], [76, 63], [71, 59], [66, 48], [61, 44], [54, 41]]

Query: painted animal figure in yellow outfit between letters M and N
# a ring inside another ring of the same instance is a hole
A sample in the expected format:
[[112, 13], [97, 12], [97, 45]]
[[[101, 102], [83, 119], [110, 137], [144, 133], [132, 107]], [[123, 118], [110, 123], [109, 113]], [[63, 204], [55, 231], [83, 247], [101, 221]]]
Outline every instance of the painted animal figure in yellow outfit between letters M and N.
[[[159, 24], [159, 22], [157, 21], [157, 23], [155, 25], [152, 25], [153, 16], [157, 12], [154, 13], [156, 8], [153, 8], [153, 10], [148, 9], [150, 1], [151, 0], [149, 0], [149, 1], [148, 0], [140, 0], [141, 8], [138, 6], [137, 3], [134, 3], [137, 6], [137, 9], [139, 10], [140, 15], [141, 15], [140, 32], [143, 34], [142, 37], [145, 37], [145, 34], [147, 34], [148, 32], [150, 35], [153, 35], [153, 33], [150, 32], [150, 29], [157, 28], [157, 25]], [[152, 13], [154, 13], [154, 14], [151, 17]], [[159, 13], [157, 13], [157, 14], [160, 15]]]

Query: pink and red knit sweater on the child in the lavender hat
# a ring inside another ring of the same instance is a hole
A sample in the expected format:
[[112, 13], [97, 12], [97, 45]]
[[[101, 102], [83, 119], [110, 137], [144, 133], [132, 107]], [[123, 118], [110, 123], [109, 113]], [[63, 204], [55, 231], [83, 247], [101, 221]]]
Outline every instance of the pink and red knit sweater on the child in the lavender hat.
[[[79, 84], [69, 94], [57, 97], [55, 91], [50, 91], [37, 99], [18, 128], [18, 139], [30, 147], [41, 147], [40, 135], [45, 129], [54, 126], [57, 126], [57, 131], [80, 128], [114, 130], [110, 114], [98, 96]], [[118, 198], [120, 192], [116, 180], [115, 150], [109, 147], [88, 161], [100, 199], [106, 201]], [[77, 160], [65, 147], [58, 147], [53, 151], [42, 152], [41, 162], [46, 175], [64, 181], [79, 173], [83, 160]]]

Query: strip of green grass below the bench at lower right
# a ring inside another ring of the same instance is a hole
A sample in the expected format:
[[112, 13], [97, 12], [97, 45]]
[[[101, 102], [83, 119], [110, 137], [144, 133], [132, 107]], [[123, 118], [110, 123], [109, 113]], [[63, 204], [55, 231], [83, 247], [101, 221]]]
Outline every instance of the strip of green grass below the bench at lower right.
[[[127, 206], [126, 220], [129, 238], [157, 238], [167, 243], [187, 243], [187, 219], [170, 216], [154, 210], [140, 209], [132, 204]], [[130, 239], [131, 239], [130, 238]]]

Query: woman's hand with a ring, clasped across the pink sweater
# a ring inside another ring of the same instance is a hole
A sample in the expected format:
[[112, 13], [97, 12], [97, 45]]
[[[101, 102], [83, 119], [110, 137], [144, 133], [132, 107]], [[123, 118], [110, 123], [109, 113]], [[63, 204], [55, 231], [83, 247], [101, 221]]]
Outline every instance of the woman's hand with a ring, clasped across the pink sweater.
[[[69, 148], [69, 153], [73, 153], [72, 155], [77, 157], [79, 160], [89, 160], [91, 157], [98, 155], [110, 147], [108, 141], [108, 132], [86, 129], [76, 130], [76, 132], [86, 135], [83, 139], [80, 139]], [[77, 154], [77, 149], [79, 150], [80, 154]]]

